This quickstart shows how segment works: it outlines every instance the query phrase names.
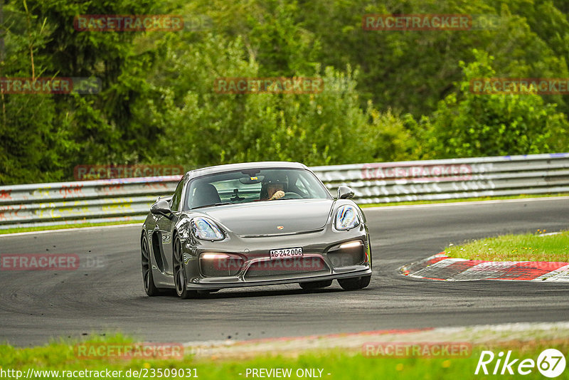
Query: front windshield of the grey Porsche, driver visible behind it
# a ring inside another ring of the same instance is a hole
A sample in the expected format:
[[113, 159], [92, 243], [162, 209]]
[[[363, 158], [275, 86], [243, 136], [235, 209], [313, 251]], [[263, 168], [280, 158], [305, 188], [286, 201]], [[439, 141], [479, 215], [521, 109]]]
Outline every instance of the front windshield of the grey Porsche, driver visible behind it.
[[186, 191], [186, 210], [278, 199], [331, 199], [321, 181], [305, 169], [247, 169], [210, 174], [193, 179]]

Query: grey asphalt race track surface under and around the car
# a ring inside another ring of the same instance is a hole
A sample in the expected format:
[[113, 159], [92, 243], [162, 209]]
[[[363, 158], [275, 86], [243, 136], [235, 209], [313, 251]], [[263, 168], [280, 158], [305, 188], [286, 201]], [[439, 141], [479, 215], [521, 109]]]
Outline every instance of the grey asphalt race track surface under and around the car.
[[[414, 280], [398, 268], [447, 243], [569, 228], [569, 199], [364, 209], [373, 278], [347, 292], [298, 285], [222, 290], [207, 298], [147, 297], [139, 226], [0, 237], [0, 255], [75, 253], [79, 270], [0, 271], [0, 341], [124, 332], [147, 342], [257, 339], [377, 329], [569, 321], [569, 284]], [[86, 260], [90, 260], [87, 262]]]

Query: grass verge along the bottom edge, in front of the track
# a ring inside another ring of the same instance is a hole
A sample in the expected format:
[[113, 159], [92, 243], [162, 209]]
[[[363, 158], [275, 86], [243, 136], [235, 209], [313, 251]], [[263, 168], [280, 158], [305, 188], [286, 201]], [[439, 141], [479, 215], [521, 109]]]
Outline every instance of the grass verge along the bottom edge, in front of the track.
[[[105, 342], [131, 342], [129, 339], [115, 336], [108, 339], [96, 339]], [[512, 350], [512, 358], [537, 359], [543, 349], [555, 348], [564, 354], [569, 352], [568, 339], [555, 341], [534, 342], [502, 342], [498, 345], [486, 345], [496, 354], [499, 351]], [[54, 342], [43, 347], [14, 348], [8, 345], [0, 346], [1, 369], [16, 369], [23, 371], [25, 376], [28, 368], [36, 370], [101, 370], [109, 369], [122, 371], [152, 369], [195, 369], [198, 379], [251, 379], [245, 377], [247, 369], [292, 369], [291, 379], [297, 379], [297, 369], [323, 369], [323, 379], [484, 379], [488, 376], [474, 375], [482, 347], [474, 347], [472, 356], [464, 358], [419, 358], [419, 357], [364, 357], [361, 352], [329, 349], [294, 356], [260, 356], [253, 359], [220, 359], [210, 358], [194, 360], [186, 356], [179, 360], [93, 360], [78, 359], [75, 356], [73, 344]], [[495, 361], [494, 361], [495, 363]], [[490, 371], [494, 368], [488, 366]], [[241, 375], [240, 375], [241, 374]], [[330, 375], [328, 375], [330, 374]], [[519, 375], [518, 375], [519, 376]], [[489, 377], [493, 377], [489, 375]], [[501, 376], [500, 376], [501, 377]], [[36, 376], [35, 379], [50, 379], [50, 376]], [[121, 377], [124, 378], [124, 377]], [[144, 376], [142, 376], [144, 378]], [[151, 378], [151, 377], [149, 377]], [[507, 378], [507, 377], [506, 377]], [[543, 379], [537, 369], [523, 376], [524, 379]], [[181, 379], [181, 378], [178, 378]], [[566, 369], [556, 379], [569, 379]]]

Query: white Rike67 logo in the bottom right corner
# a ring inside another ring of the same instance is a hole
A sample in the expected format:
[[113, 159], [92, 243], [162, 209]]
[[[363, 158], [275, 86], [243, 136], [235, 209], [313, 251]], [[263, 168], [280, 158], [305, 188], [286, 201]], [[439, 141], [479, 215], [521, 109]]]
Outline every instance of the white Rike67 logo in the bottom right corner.
[[474, 374], [493, 375], [528, 375], [535, 369], [546, 377], [557, 377], [565, 371], [565, 356], [557, 349], [544, 349], [537, 361], [512, 357], [511, 351], [497, 355], [491, 351], [482, 351]]

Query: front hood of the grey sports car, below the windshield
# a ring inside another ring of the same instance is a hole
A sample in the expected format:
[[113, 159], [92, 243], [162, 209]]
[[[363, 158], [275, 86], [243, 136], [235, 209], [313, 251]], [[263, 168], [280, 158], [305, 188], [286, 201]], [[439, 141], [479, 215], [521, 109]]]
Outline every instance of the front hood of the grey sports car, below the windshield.
[[201, 212], [233, 233], [258, 236], [324, 228], [333, 205], [332, 199], [291, 199], [216, 206]]

